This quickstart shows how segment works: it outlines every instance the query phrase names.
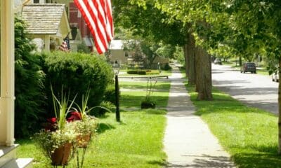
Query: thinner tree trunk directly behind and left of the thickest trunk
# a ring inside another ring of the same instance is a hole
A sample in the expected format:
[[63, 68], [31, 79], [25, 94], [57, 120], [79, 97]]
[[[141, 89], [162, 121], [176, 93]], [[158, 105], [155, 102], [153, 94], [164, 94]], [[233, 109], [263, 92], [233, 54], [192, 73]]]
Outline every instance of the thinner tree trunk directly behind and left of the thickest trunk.
[[195, 39], [192, 34], [188, 34], [188, 85], [195, 85], [196, 69], [195, 69]]

